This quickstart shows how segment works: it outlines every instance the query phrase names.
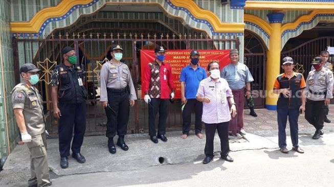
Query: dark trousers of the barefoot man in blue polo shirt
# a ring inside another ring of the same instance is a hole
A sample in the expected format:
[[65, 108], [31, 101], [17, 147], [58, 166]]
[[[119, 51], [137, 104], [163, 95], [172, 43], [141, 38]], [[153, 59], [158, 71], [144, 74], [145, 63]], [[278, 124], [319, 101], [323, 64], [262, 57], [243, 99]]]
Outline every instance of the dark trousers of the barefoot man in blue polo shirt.
[[191, 111], [195, 108], [195, 134], [201, 133], [202, 131], [202, 113], [203, 103], [196, 99], [188, 99], [186, 105], [182, 111], [182, 132], [183, 134], [189, 134], [190, 123], [191, 123]]

